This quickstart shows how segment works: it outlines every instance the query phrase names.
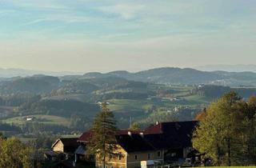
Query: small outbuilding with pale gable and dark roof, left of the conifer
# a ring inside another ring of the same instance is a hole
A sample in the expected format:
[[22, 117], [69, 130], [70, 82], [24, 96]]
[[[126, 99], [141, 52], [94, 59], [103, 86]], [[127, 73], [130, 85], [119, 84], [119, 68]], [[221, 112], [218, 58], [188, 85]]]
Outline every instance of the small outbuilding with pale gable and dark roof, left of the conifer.
[[53, 154], [62, 154], [61, 160], [67, 160], [74, 156], [74, 151], [78, 148], [78, 138], [59, 138], [51, 146]]

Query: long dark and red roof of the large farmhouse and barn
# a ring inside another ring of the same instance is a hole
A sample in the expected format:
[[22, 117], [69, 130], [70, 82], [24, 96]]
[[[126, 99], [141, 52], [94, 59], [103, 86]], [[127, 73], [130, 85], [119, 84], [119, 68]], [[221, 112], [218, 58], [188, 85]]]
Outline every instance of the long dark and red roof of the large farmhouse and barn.
[[146, 129], [143, 134], [116, 135], [126, 152], [152, 149], [178, 149], [191, 146], [192, 133], [198, 122], [162, 122]]

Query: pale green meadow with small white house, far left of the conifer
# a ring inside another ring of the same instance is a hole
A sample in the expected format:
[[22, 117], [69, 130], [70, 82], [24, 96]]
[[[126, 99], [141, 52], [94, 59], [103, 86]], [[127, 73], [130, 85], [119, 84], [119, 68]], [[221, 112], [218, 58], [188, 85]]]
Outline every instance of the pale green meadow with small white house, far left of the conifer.
[[[33, 119], [32, 121], [26, 121], [26, 118], [33, 118]], [[29, 116], [8, 118], [6, 120], [3, 120], [3, 122], [14, 124], [14, 125], [23, 125], [26, 122], [38, 122], [38, 123], [49, 124], [49, 125], [68, 126], [70, 124], [70, 119], [58, 117], [54, 115], [29, 115]]]

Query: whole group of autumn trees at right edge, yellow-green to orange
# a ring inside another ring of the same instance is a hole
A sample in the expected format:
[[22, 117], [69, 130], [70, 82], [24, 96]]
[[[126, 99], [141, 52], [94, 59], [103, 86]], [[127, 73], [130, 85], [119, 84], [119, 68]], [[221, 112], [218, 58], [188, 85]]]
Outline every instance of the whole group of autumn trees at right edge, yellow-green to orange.
[[193, 146], [216, 166], [256, 165], [256, 96], [230, 91], [198, 114]]

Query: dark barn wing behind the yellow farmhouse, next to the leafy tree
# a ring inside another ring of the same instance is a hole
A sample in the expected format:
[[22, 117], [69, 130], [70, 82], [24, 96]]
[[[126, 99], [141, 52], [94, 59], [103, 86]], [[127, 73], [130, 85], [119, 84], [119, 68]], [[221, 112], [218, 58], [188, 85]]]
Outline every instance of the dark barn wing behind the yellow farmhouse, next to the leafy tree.
[[163, 150], [165, 162], [178, 162], [194, 152], [192, 134], [197, 121], [162, 122], [144, 131], [144, 137], [157, 150]]

